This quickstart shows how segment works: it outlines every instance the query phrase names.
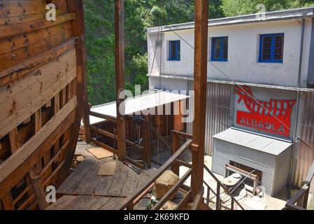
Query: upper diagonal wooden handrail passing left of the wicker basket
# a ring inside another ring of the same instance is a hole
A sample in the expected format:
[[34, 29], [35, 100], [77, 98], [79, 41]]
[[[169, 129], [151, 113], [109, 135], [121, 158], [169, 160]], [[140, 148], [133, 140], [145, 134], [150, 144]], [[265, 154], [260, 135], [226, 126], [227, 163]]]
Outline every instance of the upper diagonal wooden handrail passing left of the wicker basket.
[[[160, 167], [158, 169], [158, 172], [156, 174], [154, 174], [153, 176], [150, 177], [150, 180], [148, 182], [145, 183], [145, 185], [139, 189], [136, 193], [134, 193], [133, 195], [127, 197], [124, 199], [122, 206], [120, 207], [120, 210], [125, 209], [125, 208], [131, 208], [134, 207], [134, 200], [136, 200], [136, 198], [138, 198], [139, 195], [141, 195], [141, 193], [143, 193], [143, 191], [145, 191], [147, 188], [149, 188], [150, 186], [152, 186], [152, 184], [158, 179], [159, 176], [161, 176], [166, 169], [168, 169], [172, 163], [177, 160], [179, 158], [179, 156], [190, 146], [192, 145], [192, 140], [187, 140], [185, 142], [185, 144], [183, 144], [183, 146], [181, 146], [178, 151], [176, 151], [176, 153], [174, 153], [171, 158], [169, 158], [169, 160], [167, 160], [164, 165], [162, 165], [162, 167]], [[136, 204], [137, 202], [135, 202]]]

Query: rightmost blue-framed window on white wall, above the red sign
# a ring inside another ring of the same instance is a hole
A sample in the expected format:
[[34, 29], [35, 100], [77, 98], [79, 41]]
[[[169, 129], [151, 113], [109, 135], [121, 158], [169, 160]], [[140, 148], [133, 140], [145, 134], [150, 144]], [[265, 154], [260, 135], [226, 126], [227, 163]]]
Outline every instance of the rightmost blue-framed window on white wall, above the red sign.
[[285, 34], [259, 36], [259, 62], [282, 63]]

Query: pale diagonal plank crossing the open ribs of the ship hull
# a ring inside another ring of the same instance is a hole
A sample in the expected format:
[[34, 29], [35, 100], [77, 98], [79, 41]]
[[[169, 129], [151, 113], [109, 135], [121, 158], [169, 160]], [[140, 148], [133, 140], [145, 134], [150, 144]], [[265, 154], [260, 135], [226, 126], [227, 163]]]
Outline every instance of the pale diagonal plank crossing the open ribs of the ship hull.
[[11, 155], [6, 161], [0, 165], [0, 182], [8, 178], [8, 176], [17, 167], [22, 165], [24, 160], [26, 160], [31, 153], [34, 153], [36, 148], [38, 148], [45, 139], [60, 125], [64, 122], [64, 119], [69, 116], [69, 113], [76, 109], [76, 99], [72, 99], [64, 108], [59, 111], [53, 118], [51, 118], [48, 123], [46, 123], [37, 134], [35, 134], [26, 144], [24, 144], [19, 151]]

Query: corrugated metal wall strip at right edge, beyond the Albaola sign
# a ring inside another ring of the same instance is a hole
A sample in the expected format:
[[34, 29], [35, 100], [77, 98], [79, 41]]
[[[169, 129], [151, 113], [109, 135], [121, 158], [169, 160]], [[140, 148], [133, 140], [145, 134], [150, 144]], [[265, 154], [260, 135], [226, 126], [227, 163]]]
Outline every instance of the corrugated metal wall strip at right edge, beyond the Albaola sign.
[[[301, 123], [300, 137], [311, 147], [314, 147], [314, 93], [303, 92], [303, 107], [300, 107], [300, 111], [303, 111]], [[302, 181], [306, 179], [308, 169], [311, 167], [314, 161], [314, 151], [308, 148], [303, 143], [299, 143], [297, 153], [297, 167], [295, 172], [294, 184], [301, 187]], [[311, 192], [314, 190], [314, 180], [311, 183]]]

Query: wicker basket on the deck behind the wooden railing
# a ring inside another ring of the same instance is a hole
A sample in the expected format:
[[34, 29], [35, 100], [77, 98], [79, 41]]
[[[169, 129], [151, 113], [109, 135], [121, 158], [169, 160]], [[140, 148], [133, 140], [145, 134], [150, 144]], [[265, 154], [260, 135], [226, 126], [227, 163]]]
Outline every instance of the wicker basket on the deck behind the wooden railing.
[[[155, 181], [155, 193], [157, 198], [162, 198], [168, 191], [179, 181], [179, 177], [171, 170], [166, 170], [162, 176]], [[176, 196], [176, 193], [171, 195], [170, 200]]]

